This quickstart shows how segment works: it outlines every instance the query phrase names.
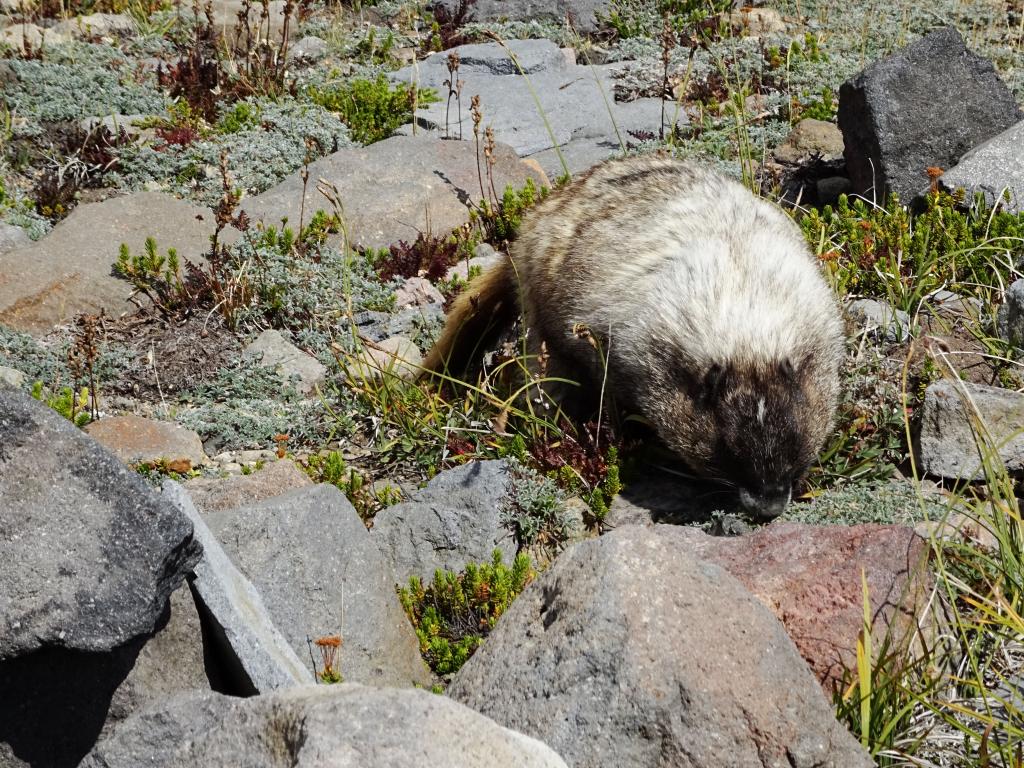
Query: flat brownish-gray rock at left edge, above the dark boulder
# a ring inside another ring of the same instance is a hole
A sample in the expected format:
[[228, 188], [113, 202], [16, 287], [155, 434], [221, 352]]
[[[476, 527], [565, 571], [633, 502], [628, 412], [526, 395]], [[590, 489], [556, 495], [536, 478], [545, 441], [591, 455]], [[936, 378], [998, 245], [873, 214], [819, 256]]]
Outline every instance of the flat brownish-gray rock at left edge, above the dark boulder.
[[120, 245], [138, 253], [154, 237], [161, 253], [201, 262], [213, 227], [208, 208], [160, 193], [81, 205], [42, 240], [0, 253], [0, 325], [42, 335], [78, 312], [131, 311], [131, 284], [111, 271]]

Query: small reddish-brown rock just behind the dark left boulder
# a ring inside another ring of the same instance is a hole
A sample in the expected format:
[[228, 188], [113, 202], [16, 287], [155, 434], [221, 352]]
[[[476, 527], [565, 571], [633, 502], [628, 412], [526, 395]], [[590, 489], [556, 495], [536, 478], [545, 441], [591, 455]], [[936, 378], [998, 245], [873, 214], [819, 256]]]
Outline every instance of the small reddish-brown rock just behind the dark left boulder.
[[206, 464], [203, 441], [190, 429], [141, 416], [109, 416], [85, 428], [125, 464], [162, 465], [187, 472]]

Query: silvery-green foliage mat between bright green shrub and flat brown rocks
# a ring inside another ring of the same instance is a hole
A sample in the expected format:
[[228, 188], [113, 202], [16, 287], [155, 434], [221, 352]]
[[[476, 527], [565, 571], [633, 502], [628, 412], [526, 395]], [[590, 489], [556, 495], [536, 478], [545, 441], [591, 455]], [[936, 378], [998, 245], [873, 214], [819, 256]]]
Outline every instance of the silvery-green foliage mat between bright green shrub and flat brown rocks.
[[223, 193], [216, 171], [222, 150], [227, 151], [232, 183], [255, 195], [304, 163], [353, 145], [345, 125], [316, 104], [291, 97], [253, 98], [247, 103], [259, 116], [255, 124], [233, 133], [211, 134], [187, 146], [128, 147], [121, 156], [121, 170], [109, 178], [129, 189], [166, 183], [175, 193], [213, 206]]

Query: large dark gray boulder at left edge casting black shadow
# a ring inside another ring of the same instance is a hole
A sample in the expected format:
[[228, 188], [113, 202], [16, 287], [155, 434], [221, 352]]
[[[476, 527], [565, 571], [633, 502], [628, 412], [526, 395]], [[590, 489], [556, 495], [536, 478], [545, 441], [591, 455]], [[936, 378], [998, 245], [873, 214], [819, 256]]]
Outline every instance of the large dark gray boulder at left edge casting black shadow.
[[67, 419], [0, 386], [0, 659], [153, 632], [199, 560], [188, 519]]

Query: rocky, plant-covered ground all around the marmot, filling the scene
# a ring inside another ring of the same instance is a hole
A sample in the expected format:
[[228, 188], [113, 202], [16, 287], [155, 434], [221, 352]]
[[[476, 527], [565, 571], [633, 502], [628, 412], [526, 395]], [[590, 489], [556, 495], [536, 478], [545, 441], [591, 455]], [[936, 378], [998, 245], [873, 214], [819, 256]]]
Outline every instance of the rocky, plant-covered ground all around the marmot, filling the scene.
[[[52, 5], [0, 0], [0, 765], [1015, 754], [1020, 2]], [[646, 152], [844, 307], [768, 525], [414, 381], [540, 196]]]

